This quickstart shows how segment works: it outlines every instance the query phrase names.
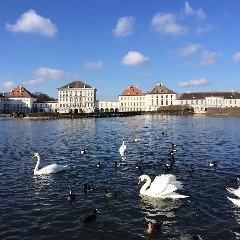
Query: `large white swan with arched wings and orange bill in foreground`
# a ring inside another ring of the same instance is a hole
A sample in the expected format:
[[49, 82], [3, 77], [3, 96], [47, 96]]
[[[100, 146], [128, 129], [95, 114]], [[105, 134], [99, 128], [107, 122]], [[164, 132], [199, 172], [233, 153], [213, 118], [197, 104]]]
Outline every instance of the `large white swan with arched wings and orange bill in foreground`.
[[[176, 180], [176, 177], [171, 174], [163, 174], [155, 177], [151, 183], [151, 178], [148, 175], [141, 175], [138, 178], [138, 184], [146, 180], [145, 184], [140, 189], [140, 195], [146, 195], [154, 198], [187, 198], [188, 196], [178, 194], [174, 191], [182, 188], [181, 182]], [[149, 188], [148, 188], [149, 187]]]

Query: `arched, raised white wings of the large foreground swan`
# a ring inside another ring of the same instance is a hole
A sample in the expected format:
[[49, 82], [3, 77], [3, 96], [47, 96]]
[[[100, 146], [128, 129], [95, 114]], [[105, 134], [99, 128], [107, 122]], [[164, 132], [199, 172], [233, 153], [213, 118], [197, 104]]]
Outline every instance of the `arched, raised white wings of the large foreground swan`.
[[181, 187], [181, 183], [176, 180], [174, 175], [162, 174], [155, 177], [148, 191], [156, 195], [167, 195]]

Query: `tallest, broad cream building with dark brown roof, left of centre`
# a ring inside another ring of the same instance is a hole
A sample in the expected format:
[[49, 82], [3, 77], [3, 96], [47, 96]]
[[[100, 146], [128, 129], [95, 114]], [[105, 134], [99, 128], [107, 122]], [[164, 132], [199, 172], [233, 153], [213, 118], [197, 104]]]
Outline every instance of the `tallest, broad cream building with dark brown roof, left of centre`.
[[96, 91], [96, 88], [81, 81], [58, 88], [58, 111], [60, 113], [94, 112]]

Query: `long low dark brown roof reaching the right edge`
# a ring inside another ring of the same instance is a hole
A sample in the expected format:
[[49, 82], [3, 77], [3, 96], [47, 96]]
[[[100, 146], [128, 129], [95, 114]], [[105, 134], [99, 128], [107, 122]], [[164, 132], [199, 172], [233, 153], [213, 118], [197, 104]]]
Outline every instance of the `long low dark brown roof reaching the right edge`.
[[179, 100], [205, 99], [206, 97], [222, 97], [225, 99], [240, 99], [239, 92], [195, 92], [183, 93], [178, 96]]

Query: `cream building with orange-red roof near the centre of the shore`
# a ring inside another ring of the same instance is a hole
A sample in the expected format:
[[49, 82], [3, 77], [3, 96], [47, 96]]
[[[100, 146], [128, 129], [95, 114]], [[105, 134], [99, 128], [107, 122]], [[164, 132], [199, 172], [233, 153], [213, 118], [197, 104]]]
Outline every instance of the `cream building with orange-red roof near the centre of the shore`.
[[119, 111], [145, 111], [145, 94], [137, 87], [130, 85], [119, 95]]

